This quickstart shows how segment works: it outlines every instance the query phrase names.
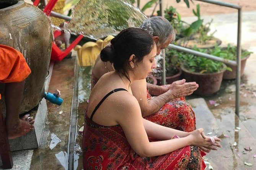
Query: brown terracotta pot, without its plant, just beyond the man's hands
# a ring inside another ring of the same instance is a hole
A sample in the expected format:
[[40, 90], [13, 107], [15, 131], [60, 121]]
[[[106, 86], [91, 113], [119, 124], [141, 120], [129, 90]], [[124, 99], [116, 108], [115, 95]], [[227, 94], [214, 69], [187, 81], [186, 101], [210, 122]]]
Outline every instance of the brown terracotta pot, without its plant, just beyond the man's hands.
[[[226, 65], [223, 64], [223, 68]], [[209, 74], [201, 74], [196, 72], [190, 72], [184, 66], [181, 66], [181, 70], [183, 71], [184, 78], [186, 82], [196, 82], [199, 87], [193, 94], [200, 96], [210, 96], [220, 90], [220, 85], [222, 82], [223, 73], [225, 69], [220, 72], [209, 73]]]

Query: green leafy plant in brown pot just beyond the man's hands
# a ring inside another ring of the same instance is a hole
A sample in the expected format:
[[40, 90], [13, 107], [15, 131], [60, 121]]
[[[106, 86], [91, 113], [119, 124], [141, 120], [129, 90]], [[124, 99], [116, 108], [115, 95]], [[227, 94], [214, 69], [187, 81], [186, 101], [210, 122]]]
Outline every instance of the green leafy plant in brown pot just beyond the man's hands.
[[[195, 48], [194, 50], [206, 52], [205, 49]], [[188, 53], [181, 52], [178, 58], [186, 82], [197, 82], [199, 88], [194, 91], [194, 94], [201, 96], [210, 96], [220, 90], [223, 73], [230, 70], [223, 63]]]

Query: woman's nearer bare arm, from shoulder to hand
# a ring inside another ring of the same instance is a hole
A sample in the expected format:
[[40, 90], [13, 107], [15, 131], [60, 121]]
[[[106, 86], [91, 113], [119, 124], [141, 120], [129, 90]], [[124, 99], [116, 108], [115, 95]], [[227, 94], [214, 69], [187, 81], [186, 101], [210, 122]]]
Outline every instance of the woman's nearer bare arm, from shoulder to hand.
[[[140, 156], [159, 156], [188, 145], [196, 145], [199, 147], [212, 145], [210, 141], [207, 141], [202, 137], [201, 133], [203, 129], [195, 130], [183, 138], [149, 142], [147, 132], [143, 124], [144, 120], [141, 117], [140, 107], [137, 100], [133, 96], [122, 96], [122, 98], [120, 96], [118, 101], [119, 102], [117, 103], [118, 107], [116, 108], [117, 112], [115, 116], [117, 119], [116, 121], [121, 125], [127, 141], [129, 142], [132, 149], [134, 149], [134, 151]], [[147, 129], [151, 126], [153, 125], [146, 123]], [[164, 130], [164, 132], [166, 132], [165, 128], [160, 130]], [[154, 135], [159, 133], [160, 130], [158, 128], [152, 128], [148, 133]], [[161, 133], [163, 134], [164, 132]], [[175, 135], [176, 133], [179, 132], [176, 130], [173, 132], [170, 131], [171, 135]], [[179, 135], [182, 134], [183, 133], [179, 133]], [[167, 138], [167, 136], [162, 137]]]

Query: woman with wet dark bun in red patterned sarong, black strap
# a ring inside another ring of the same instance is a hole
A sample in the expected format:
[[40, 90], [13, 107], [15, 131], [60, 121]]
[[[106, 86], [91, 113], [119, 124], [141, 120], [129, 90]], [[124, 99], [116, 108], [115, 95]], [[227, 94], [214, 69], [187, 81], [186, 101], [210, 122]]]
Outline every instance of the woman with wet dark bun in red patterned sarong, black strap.
[[139, 28], [122, 30], [101, 51], [101, 60], [115, 70], [91, 91], [83, 131], [85, 170], [203, 170], [199, 147], [221, 147], [220, 139], [205, 136], [202, 128], [182, 132], [143, 119], [130, 85], [150, 74], [156, 55], [152, 35]]

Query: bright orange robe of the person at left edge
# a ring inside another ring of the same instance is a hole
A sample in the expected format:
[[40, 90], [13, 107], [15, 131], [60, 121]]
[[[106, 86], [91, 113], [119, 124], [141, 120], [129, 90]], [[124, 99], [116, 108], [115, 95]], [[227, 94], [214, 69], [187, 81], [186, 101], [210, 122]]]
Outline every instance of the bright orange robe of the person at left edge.
[[20, 51], [0, 44], [0, 83], [22, 82], [30, 73], [31, 70]]

